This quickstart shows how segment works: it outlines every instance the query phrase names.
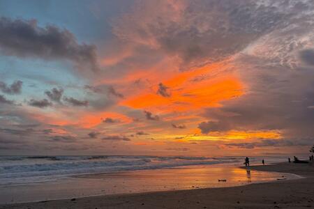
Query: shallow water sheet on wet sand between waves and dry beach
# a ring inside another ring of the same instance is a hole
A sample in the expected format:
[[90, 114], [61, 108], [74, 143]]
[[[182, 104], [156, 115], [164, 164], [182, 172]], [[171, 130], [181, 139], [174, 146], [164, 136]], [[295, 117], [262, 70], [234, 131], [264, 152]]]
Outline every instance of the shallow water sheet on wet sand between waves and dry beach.
[[[287, 179], [299, 178], [289, 173], [254, 171], [221, 164], [76, 175], [45, 183], [1, 185], [0, 203], [174, 189], [234, 187], [249, 183], [263, 183], [283, 177]], [[226, 181], [218, 181], [218, 179]]]

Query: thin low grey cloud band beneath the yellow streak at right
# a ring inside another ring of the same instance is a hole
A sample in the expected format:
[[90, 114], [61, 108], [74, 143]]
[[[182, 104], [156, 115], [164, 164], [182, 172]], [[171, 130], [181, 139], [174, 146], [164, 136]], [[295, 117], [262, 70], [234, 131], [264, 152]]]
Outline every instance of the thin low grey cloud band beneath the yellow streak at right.
[[225, 146], [253, 149], [259, 147], [283, 147], [283, 146], [311, 146], [313, 138], [306, 139], [262, 139], [257, 142], [227, 143]]

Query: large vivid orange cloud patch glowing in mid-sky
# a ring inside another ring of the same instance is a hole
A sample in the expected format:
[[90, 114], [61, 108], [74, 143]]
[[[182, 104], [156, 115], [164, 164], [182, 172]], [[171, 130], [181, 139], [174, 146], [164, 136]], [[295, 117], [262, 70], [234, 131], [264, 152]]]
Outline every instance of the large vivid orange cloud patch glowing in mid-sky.
[[[168, 87], [170, 97], [158, 95], [158, 85], [120, 102], [136, 109], [156, 111], [187, 111], [202, 107], [217, 107], [219, 102], [242, 95], [243, 84], [237, 77], [221, 72], [225, 62], [214, 63], [188, 72], [179, 72], [162, 83]], [[220, 75], [219, 75], [220, 73]], [[201, 77], [201, 78], [199, 78]]]

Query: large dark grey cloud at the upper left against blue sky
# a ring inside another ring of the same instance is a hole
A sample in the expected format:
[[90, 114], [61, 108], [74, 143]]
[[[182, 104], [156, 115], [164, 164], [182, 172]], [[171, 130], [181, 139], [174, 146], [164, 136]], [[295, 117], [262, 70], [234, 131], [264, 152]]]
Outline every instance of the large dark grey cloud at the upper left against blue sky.
[[94, 45], [79, 44], [70, 31], [53, 25], [40, 27], [36, 20], [1, 17], [0, 52], [21, 58], [66, 59], [80, 70], [98, 70]]

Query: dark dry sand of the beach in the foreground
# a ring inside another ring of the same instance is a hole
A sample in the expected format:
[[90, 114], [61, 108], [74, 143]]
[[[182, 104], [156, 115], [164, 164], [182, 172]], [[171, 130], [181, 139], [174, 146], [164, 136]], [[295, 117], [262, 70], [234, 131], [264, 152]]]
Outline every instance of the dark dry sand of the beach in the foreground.
[[314, 164], [273, 164], [251, 169], [294, 173], [304, 178], [239, 187], [117, 194], [0, 208], [311, 208], [314, 207]]

